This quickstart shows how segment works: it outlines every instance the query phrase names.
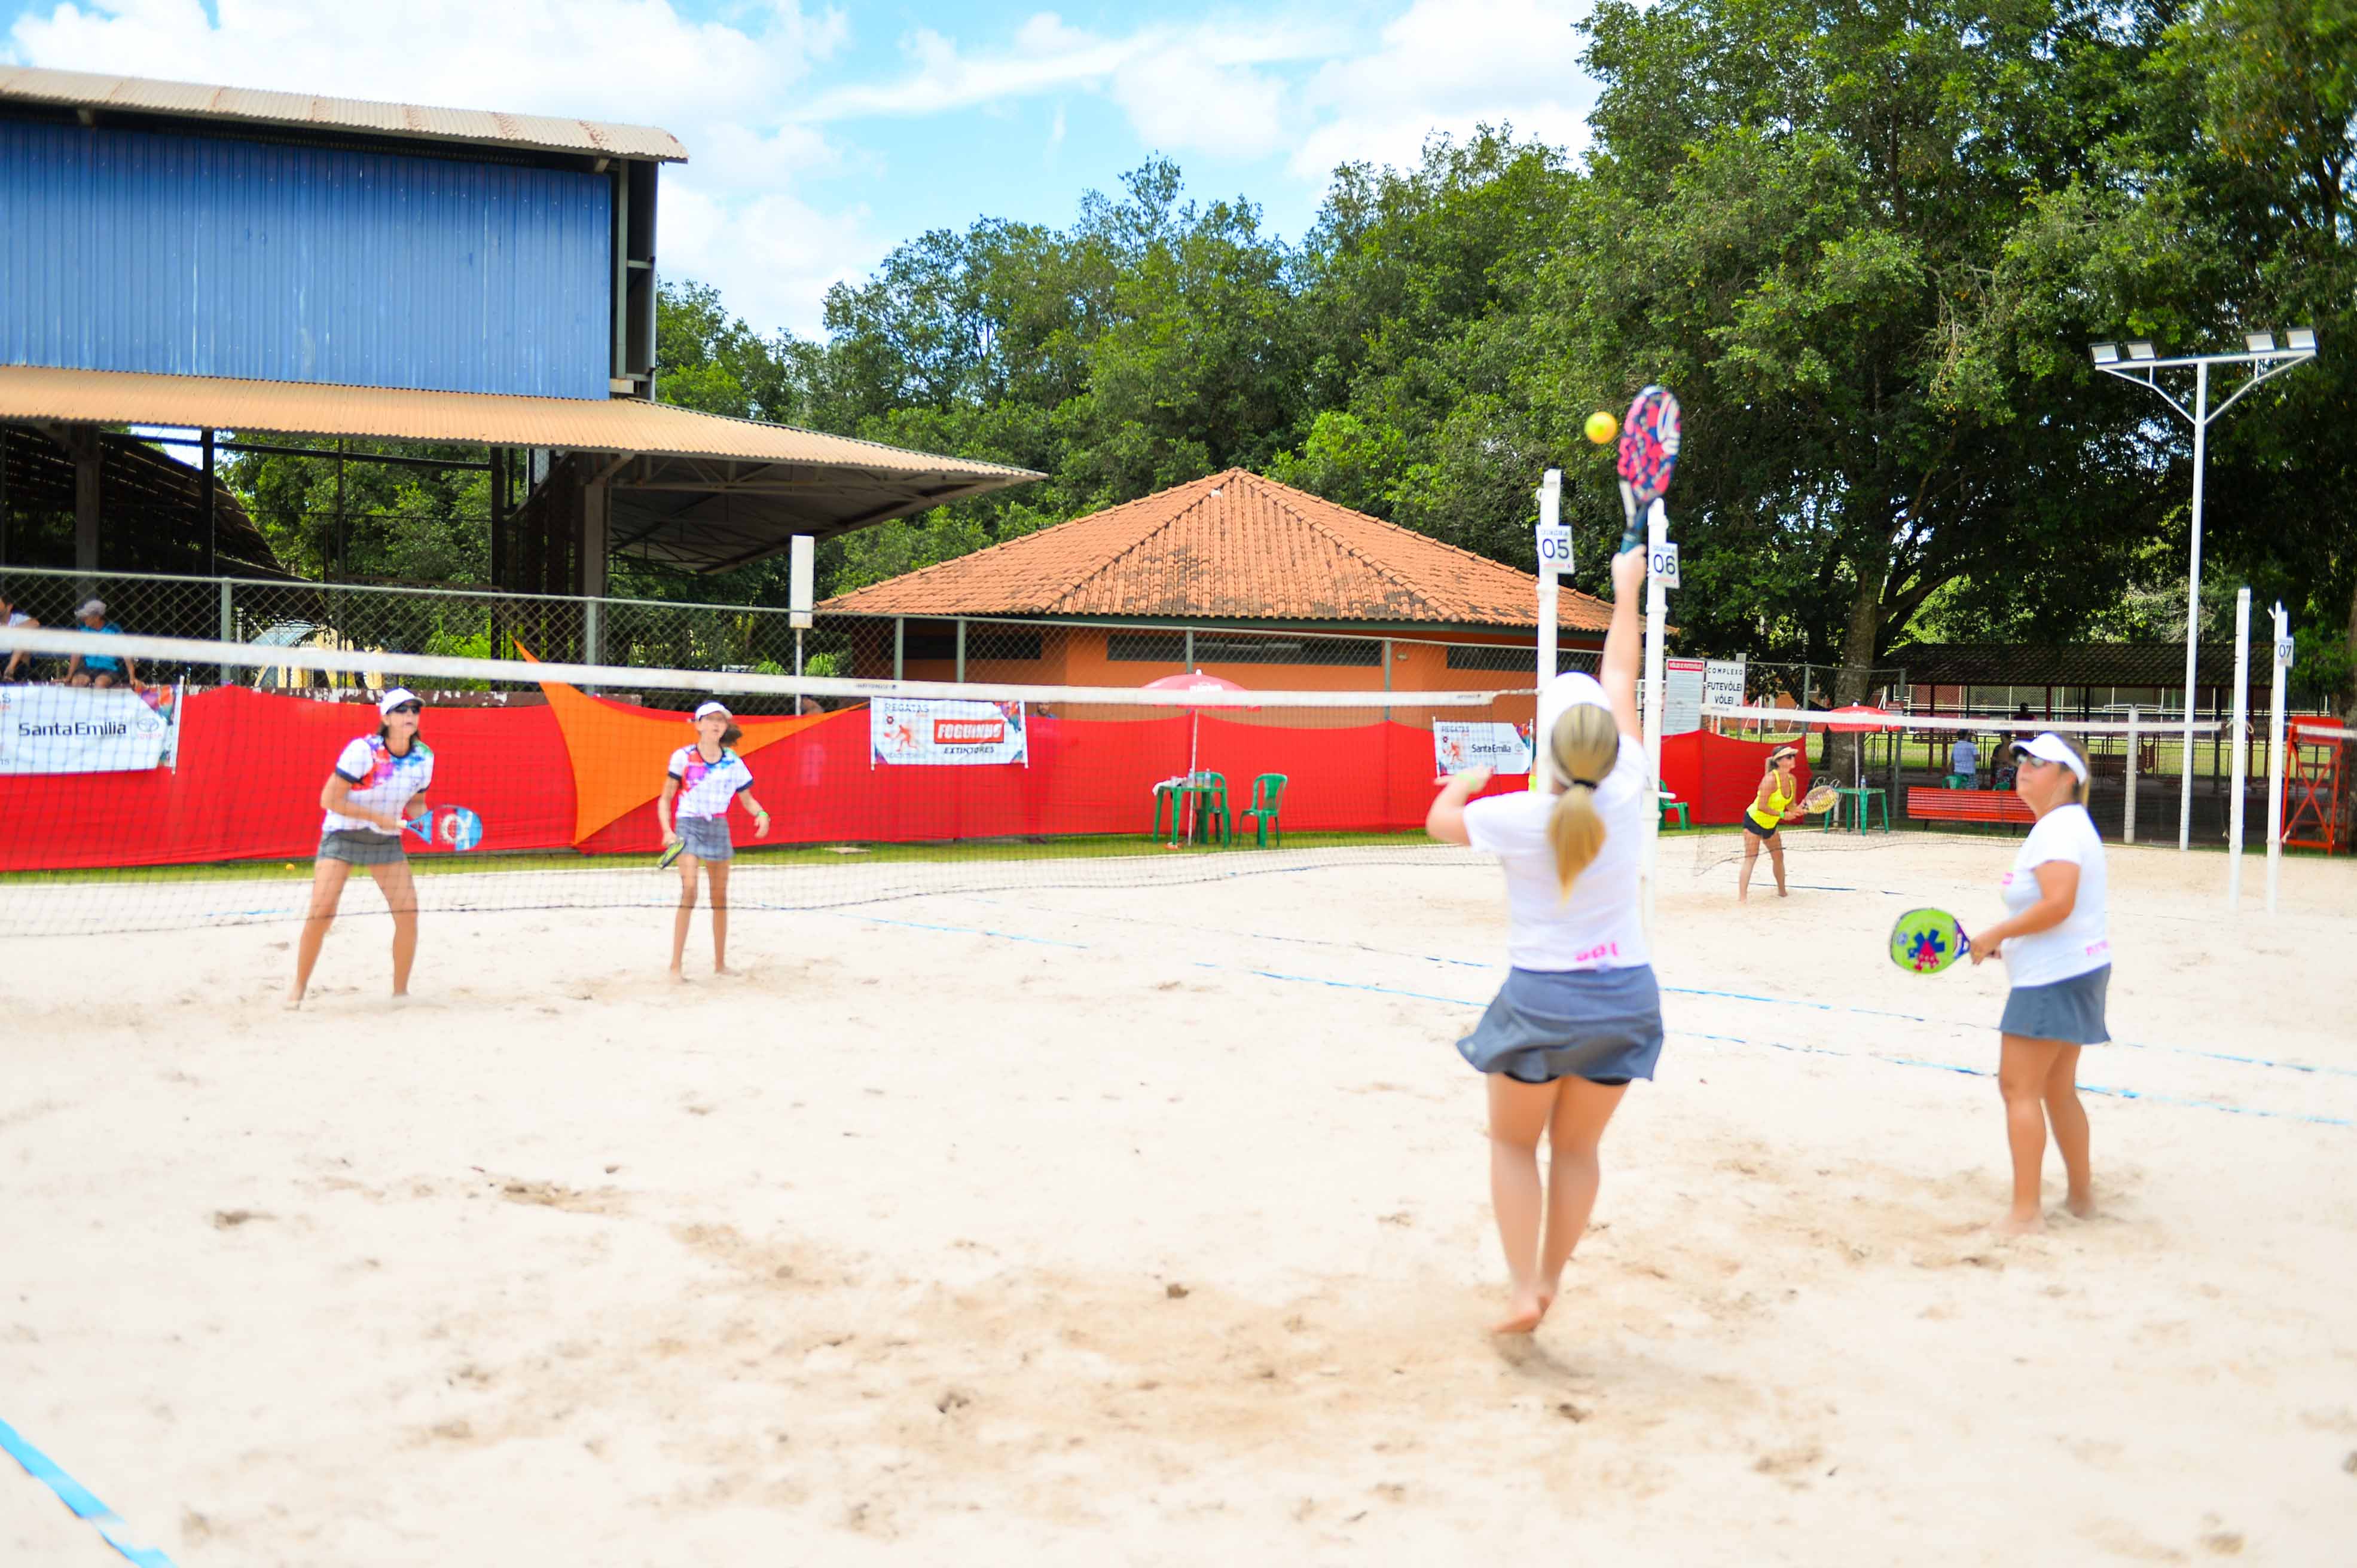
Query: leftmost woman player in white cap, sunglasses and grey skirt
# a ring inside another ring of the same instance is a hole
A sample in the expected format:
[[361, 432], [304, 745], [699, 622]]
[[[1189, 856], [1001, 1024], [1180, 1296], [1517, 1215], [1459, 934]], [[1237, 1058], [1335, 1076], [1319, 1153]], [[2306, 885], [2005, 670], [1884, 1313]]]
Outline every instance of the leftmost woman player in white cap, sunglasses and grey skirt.
[[417, 883], [410, 881], [410, 857], [401, 848], [401, 829], [427, 810], [427, 784], [434, 782], [434, 751], [417, 735], [424, 704], [415, 692], [394, 687], [377, 702], [375, 735], [354, 737], [318, 805], [318, 859], [311, 864], [311, 913], [304, 916], [302, 942], [295, 946], [295, 989], [288, 1005], [299, 1008], [311, 986], [311, 965], [344, 899], [344, 881], [354, 866], [368, 866], [394, 913], [394, 996], [410, 994], [410, 965], [417, 961]]

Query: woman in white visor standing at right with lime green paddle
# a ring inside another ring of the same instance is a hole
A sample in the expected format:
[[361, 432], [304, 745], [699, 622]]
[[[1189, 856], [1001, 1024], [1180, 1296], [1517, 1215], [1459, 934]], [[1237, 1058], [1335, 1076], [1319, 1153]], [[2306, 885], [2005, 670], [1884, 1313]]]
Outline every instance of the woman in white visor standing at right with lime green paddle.
[[2006, 1144], [2013, 1151], [2006, 1229], [2034, 1231], [2046, 1222], [2048, 1125], [2069, 1182], [2062, 1205], [2079, 1217], [2095, 1212], [2079, 1048], [2112, 1038], [2102, 1022], [2112, 986], [2110, 878], [2102, 836], [2086, 815], [2086, 751], [2046, 732], [2013, 742], [2013, 793], [2036, 815], [2036, 826], [2006, 873], [2006, 918], [1973, 935], [1973, 963], [2003, 956], [2013, 982], [1996, 1024], [1996, 1088], [2006, 1097]]

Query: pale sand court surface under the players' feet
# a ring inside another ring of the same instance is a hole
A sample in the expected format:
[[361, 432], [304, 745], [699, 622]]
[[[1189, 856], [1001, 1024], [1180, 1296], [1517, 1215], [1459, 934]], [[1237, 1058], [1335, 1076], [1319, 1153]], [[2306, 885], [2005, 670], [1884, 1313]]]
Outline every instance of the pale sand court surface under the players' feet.
[[[1664, 848], [1662, 1076], [1494, 1342], [1494, 869], [12, 942], [0, 1420], [177, 1563], [2336, 1561], [2348, 864], [2112, 850], [2102, 1215], [1996, 1241], [2015, 843]], [[1763, 871], [1765, 878], [1765, 871]], [[700, 932], [688, 970], [700, 965]], [[2048, 1156], [2048, 1198], [2060, 1165]], [[0, 1556], [106, 1563], [0, 1467]]]

